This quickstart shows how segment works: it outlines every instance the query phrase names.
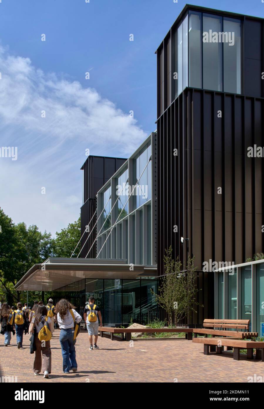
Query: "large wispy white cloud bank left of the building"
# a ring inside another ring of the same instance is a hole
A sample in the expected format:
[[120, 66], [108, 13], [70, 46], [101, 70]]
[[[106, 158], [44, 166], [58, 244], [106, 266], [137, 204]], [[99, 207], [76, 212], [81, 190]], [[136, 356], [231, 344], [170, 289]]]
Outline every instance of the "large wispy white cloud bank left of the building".
[[95, 89], [46, 74], [2, 46], [0, 71], [0, 146], [18, 147], [17, 161], [0, 158], [0, 206], [14, 222], [54, 234], [78, 218], [85, 149], [127, 157], [147, 134]]

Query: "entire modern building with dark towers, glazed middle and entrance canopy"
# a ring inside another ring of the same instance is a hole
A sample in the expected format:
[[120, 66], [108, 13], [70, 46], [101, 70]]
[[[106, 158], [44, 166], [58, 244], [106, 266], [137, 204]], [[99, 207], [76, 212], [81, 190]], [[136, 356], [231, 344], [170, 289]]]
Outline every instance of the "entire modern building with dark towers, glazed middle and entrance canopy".
[[127, 160], [82, 167], [81, 258], [48, 259], [46, 272], [35, 265], [16, 284], [72, 291], [81, 303], [97, 294], [105, 325], [155, 316], [170, 246], [183, 269], [195, 256], [201, 306], [188, 324], [233, 318], [219, 295], [229, 279], [222, 287], [206, 265], [240, 265], [264, 244], [263, 155], [248, 155], [264, 146], [264, 20], [186, 5], [156, 54], [157, 131]]

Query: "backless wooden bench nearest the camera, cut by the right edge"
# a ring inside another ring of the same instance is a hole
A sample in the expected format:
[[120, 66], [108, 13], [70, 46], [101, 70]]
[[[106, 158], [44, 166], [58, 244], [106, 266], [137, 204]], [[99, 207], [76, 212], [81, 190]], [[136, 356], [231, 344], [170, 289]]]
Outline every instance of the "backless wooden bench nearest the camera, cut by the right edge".
[[[193, 342], [197, 344], [204, 344], [204, 355], [209, 355], [210, 352], [215, 351], [221, 354], [222, 348], [233, 349], [233, 358], [236, 361], [240, 360], [240, 349], [246, 349], [248, 359], [253, 359], [253, 348], [256, 348], [256, 359], [264, 362], [264, 342], [260, 341], [246, 341], [246, 339], [232, 339], [232, 338], [193, 338]], [[212, 349], [213, 348], [213, 349]]]

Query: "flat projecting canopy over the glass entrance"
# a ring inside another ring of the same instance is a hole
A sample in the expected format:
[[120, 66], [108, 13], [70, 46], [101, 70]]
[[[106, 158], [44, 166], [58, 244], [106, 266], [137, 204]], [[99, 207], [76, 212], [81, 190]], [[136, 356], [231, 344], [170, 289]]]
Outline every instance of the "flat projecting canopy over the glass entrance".
[[157, 277], [157, 266], [129, 265], [126, 260], [49, 257], [34, 264], [15, 285], [22, 291], [55, 291], [82, 279]]

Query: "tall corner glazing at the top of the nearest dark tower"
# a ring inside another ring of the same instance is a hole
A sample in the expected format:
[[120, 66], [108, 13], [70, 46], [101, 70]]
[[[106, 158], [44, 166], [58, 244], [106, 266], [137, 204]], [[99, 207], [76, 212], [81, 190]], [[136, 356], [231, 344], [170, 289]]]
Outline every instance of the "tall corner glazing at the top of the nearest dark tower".
[[[175, 98], [188, 86], [184, 85], [182, 74], [183, 32], [182, 23], [174, 34], [174, 71], [178, 70]], [[190, 87], [241, 94], [241, 32], [239, 19], [189, 11]]]

